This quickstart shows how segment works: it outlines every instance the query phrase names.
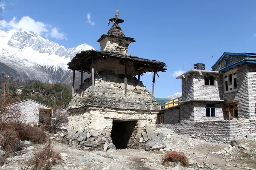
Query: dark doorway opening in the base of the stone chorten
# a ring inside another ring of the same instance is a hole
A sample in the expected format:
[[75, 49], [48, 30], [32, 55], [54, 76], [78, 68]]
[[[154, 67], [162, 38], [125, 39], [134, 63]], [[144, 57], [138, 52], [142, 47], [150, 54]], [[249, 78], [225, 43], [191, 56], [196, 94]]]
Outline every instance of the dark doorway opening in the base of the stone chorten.
[[137, 121], [113, 120], [111, 138], [112, 138], [113, 144], [116, 146], [116, 149], [128, 148], [129, 141], [131, 140], [131, 136], [135, 130], [136, 124], [137, 124]]

